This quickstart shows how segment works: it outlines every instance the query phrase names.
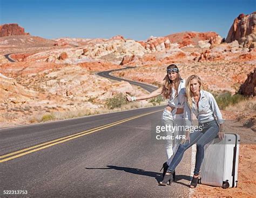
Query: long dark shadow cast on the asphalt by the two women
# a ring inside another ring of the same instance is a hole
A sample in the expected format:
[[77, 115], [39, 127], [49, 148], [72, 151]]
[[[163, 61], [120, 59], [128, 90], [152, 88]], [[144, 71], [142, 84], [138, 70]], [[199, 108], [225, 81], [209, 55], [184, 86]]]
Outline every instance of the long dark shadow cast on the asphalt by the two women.
[[[107, 168], [86, 168], [86, 169], [115, 169], [117, 171], [125, 171], [127, 173], [137, 174], [137, 175], [145, 175], [145, 176], [151, 176], [152, 178], [155, 178], [158, 182], [160, 182], [163, 178], [161, 176], [161, 173], [158, 172], [152, 172], [152, 171], [145, 171], [144, 169], [139, 168], [129, 168], [129, 167], [122, 167], [122, 166], [107, 166]], [[177, 183], [187, 186], [185, 183], [178, 182], [179, 180], [187, 180], [191, 181], [192, 177], [187, 175], [176, 175], [176, 181]]]

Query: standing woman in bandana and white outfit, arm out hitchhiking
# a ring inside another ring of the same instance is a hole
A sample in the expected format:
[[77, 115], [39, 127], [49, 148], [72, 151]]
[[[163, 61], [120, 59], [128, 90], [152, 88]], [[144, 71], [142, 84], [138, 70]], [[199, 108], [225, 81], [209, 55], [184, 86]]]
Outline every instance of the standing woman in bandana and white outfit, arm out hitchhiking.
[[[167, 161], [162, 167], [162, 169], [164, 168], [163, 176], [171, 164], [172, 157], [176, 153], [181, 142], [181, 139], [177, 137], [180, 137], [179, 135], [183, 135], [183, 130], [181, 130], [183, 127], [179, 128], [178, 126], [184, 126], [183, 112], [186, 93], [185, 80], [181, 79], [178, 67], [174, 64], [169, 65], [166, 68], [166, 72], [167, 74], [164, 77], [164, 85], [152, 93], [142, 96], [126, 95], [126, 100], [130, 102], [146, 100], [159, 95], [163, 95], [164, 98], [169, 100], [164, 109], [161, 120], [164, 126], [169, 125], [170, 128], [174, 129], [174, 131], [166, 131], [166, 136], [172, 136], [173, 138], [167, 139], [165, 143]], [[173, 174], [173, 180], [175, 180], [175, 173]]]

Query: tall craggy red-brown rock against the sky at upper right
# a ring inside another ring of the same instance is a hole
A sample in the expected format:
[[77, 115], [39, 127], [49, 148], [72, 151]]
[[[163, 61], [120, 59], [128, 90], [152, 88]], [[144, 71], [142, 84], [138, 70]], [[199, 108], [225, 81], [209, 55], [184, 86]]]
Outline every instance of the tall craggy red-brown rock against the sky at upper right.
[[250, 47], [252, 42], [256, 41], [255, 18], [256, 12], [251, 13], [251, 15], [240, 14], [235, 18], [230, 31], [228, 31], [226, 43], [238, 40], [239, 44]]

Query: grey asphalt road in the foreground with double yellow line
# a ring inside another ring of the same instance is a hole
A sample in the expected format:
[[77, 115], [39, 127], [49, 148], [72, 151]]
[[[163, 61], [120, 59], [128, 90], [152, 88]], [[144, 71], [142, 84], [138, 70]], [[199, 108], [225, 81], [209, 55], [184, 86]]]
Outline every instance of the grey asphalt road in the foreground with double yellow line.
[[177, 182], [158, 186], [166, 154], [154, 127], [163, 109], [0, 129], [0, 196], [27, 190], [16, 196], [188, 197], [191, 150], [176, 169]]

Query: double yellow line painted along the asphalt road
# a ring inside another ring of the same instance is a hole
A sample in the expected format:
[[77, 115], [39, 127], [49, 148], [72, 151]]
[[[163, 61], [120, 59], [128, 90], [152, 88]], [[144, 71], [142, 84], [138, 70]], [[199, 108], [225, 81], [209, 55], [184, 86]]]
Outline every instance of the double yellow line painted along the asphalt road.
[[[163, 110], [158, 110], [158, 111], [163, 111]], [[100, 130], [103, 130], [103, 129], [106, 129], [106, 128], [110, 128], [111, 126], [114, 126], [114, 125], [118, 125], [118, 124], [121, 124], [121, 123], [124, 123], [124, 122], [127, 122], [127, 121], [131, 121], [132, 119], [136, 119], [136, 118], [139, 118], [139, 117], [142, 117], [142, 116], [153, 114], [153, 113], [158, 112], [158, 111], [153, 111], [153, 112], [149, 112], [149, 113], [146, 113], [146, 114], [140, 114], [138, 116], [133, 116], [133, 117], [130, 117], [130, 118], [122, 119], [121, 121], [113, 122], [113, 123], [106, 124], [106, 125], [103, 125], [103, 126], [98, 126], [97, 128], [94, 128], [94, 129], [82, 131], [82, 132], [75, 133], [75, 134], [70, 135], [70, 136], [65, 136], [65, 137], [62, 137], [62, 138], [52, 140], [50, 142], [45, 142], [43, 144], [38, 144], [38, 145], [35, 145], [35, 146], [28, 147], [26, 149], [22, 149], [22, 150], [19, 150], [19, 151], [8, 153], [8, 154], [0, 156], [0, 163], [5, 162], [5, 161], [9, 161], [11, 159], [15, 159], [15, 158], [18, 158], [18, 157], [22, 157], [23, 155], [33, 153], [33, 152], [36, 152], [36, 151], [39, 151], [39, 150], [42, 150], [42, 149], [46, 149], [50, 146], [54, 146], [54, 145], [57, 145], [57, 144], [60, 144], [60, 143], [67, 142], [71, 139], [75, 139], [75, 138], [79, 138], [79, 137], [82, 137], [82, 136], [85, 136], [85, 135], [89, 135], [90, 133], [94, 133], [96, 131], [100, 131]]]

